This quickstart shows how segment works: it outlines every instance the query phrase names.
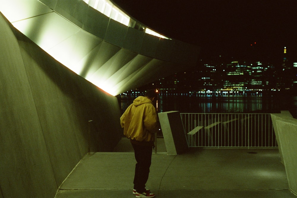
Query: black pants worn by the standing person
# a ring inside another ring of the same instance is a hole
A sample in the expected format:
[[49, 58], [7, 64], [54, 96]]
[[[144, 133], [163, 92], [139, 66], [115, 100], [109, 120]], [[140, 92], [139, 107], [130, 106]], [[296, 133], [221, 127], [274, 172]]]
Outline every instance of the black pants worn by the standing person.
[[149, 178], [149, 167], [151, 166], [152, 146], [133, 144], [136, 165], [134, 175], [134, 189], [142, 193], [146, 191], [146, 182]]

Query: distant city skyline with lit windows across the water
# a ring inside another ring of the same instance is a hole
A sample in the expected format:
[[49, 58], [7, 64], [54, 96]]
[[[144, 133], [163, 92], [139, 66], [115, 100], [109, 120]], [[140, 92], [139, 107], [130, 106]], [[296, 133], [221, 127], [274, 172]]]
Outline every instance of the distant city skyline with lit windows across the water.
[[[286, 54], [283, 55], [285, 57]], [[159, 90], [161, 94], [195, 95], [296, 92], [297, 62], [283, 62], [275, 66], [265, 61], [232, 60], [200, 61], [195, 68], [164, 77], [127, 93], [148, 89]]]

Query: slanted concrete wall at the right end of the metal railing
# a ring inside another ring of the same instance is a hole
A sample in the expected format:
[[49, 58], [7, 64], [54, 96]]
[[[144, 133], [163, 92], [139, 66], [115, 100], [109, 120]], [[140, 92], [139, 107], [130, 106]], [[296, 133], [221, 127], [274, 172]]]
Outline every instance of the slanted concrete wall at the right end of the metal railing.
[[286, 114], [271, 114], [271, 119], [285, 165], [289, 189], [297, 195], [297, 119]]

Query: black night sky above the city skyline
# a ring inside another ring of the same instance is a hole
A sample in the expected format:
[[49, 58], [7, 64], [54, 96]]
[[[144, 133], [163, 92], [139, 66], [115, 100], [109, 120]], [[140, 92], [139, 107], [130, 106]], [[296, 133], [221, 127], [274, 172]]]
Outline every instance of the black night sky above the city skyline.
[[[222, 55], [297, 61], [296, 0], [113, 0], [151, 29], [201, 47], [201, 59]], [[254, 44], [256, 42], [256, 45]], [[251, 47], [251, 44], [253, 46]], [[251, 49], [253, 54], [250, 54]]]

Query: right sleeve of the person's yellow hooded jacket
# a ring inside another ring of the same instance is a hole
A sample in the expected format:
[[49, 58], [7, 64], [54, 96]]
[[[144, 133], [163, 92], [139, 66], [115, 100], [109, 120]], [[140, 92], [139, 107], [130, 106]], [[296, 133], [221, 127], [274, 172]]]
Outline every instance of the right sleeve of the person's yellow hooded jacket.
[[159, 131], [158, 114], [152, 104], [147, 106], [143, 122], [144, 126], [150, 133], [156, 133]]

